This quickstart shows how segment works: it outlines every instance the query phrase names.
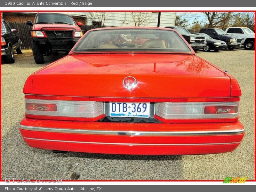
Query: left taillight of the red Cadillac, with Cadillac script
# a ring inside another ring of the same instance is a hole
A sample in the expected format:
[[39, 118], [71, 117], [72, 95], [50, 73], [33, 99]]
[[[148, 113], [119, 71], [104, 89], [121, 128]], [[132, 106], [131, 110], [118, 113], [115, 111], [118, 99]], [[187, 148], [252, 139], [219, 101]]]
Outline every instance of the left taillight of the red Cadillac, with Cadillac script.
[[27, 98], [25, 102], [28, 118], [96, 121], [104, 116], [104, 102]]

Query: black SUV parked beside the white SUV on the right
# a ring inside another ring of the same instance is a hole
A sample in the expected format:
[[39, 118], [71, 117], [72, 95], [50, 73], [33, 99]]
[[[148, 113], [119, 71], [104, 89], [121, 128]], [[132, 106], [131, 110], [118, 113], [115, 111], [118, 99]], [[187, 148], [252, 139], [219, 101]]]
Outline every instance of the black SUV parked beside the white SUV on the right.
[[205, 33], [213, 39], [225, 41], [229, 50], [233, 50], [242, 44], [242, 38], [228, 35], [225, 31], [219, 28], [201, 28], [200, 33]]

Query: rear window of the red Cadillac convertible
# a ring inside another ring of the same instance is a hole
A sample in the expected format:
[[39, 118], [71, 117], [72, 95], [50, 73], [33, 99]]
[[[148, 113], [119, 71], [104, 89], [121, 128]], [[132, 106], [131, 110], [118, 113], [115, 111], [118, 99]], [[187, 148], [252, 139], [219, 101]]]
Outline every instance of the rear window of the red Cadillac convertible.
[[74, 52], [164, 51], [191, 52], [175, 31], [160, 29], [105, 29], [82, 37]]

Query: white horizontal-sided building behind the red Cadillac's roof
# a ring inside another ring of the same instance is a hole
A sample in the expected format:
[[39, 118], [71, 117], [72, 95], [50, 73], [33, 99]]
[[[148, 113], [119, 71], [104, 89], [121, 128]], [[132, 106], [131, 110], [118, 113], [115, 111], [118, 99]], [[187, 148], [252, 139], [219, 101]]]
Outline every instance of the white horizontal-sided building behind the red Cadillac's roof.
[[[77, 12], [79, 14], [79, 12]], [[97, 22], [97, 16], [90, 15], [89, 12], [80, 12], [86, 15], [87, 25], [92, 25], [93, 21]], [[102, 12], [105, 13], [105, 12]], [[94, 16], [94, 18], [93, 18]], [[176, 12], [161, 12], [160, 27], [175, 26]], [[157, 27], [158, 12], [148, 12], [147, 21], [141, 26]], [[110, 12], [102, 25], [110, 26], [135, 26], [131, 12]]]

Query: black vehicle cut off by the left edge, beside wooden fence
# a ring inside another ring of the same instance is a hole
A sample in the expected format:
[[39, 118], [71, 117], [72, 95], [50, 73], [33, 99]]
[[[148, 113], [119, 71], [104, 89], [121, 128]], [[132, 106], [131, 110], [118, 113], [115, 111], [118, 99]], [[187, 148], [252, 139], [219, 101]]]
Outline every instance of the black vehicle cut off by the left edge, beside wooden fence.
[[22, 53], [20, 34], [6, 20], [1, 20], [1, 56], [7, 63], [14, 63], [14, 52]]

